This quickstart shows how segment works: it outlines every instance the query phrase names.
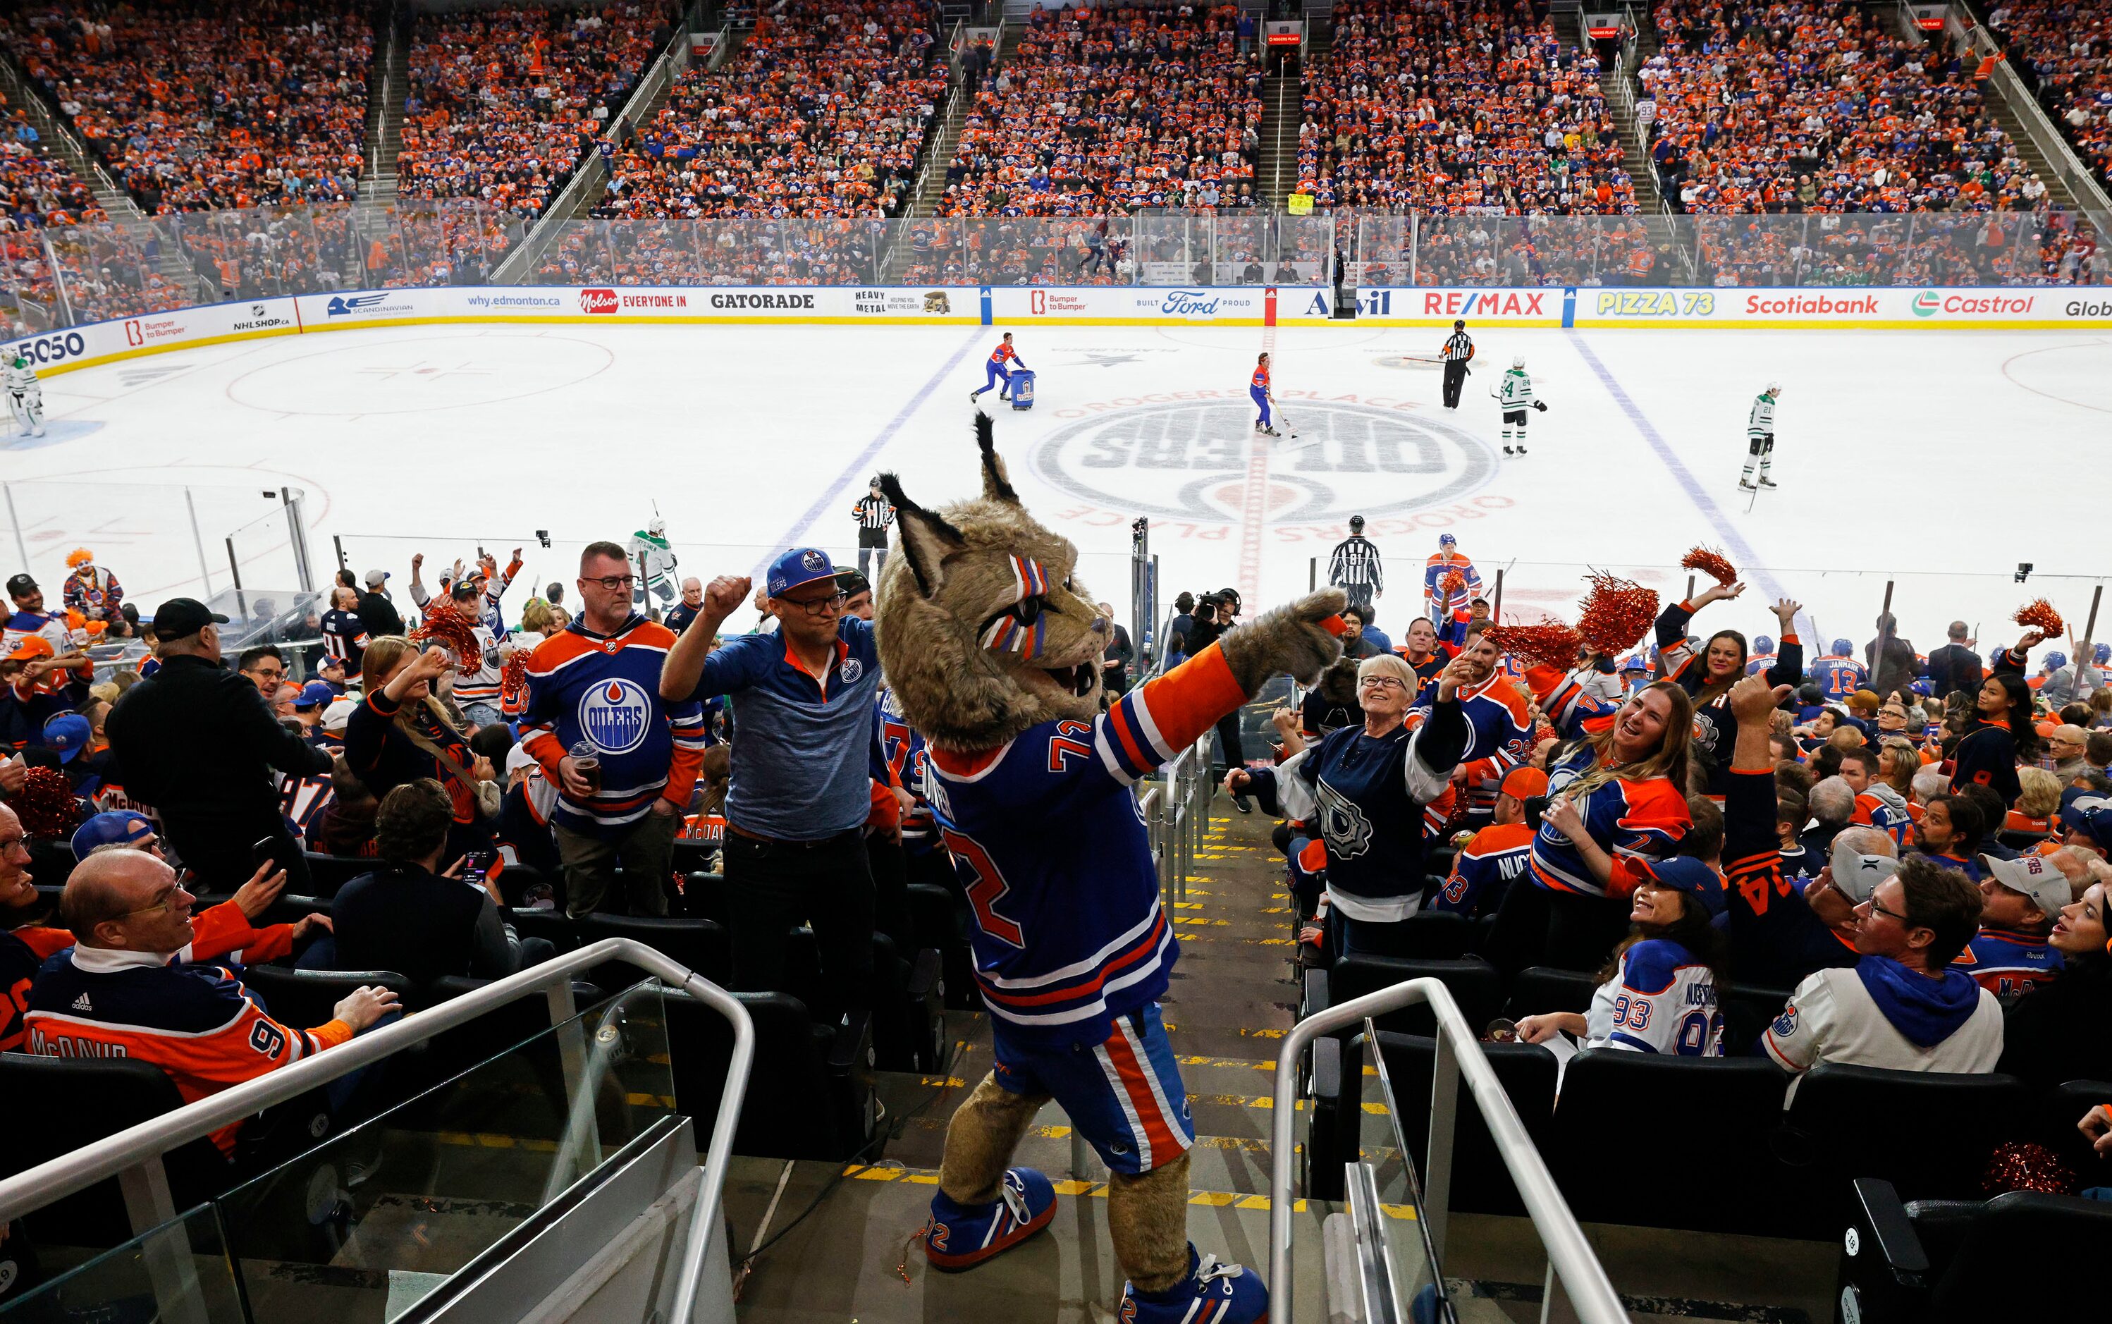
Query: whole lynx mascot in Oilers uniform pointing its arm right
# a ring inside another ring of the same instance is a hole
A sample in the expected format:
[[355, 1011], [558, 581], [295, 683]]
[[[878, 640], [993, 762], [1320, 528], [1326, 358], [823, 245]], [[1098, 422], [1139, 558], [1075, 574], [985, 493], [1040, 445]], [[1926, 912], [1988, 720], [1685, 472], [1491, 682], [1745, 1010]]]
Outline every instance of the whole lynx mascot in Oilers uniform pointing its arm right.
[[976, 980], [997, 1064], [953, 1115], [923, 1229], [936, 1269], [967, 1269], [1050, 1223], [1056, 1195], [1007, 1168], [1056, 1100], [1107, 1161], [1121, 1320], [1240, 1324], [1257, 1273], [1187, 1240], [1193, 1130], [1159, 995], [1178, 954], [1130, 783], [1265, 680], [1341, 652], [1335, 589], [1229, 631], [1100, 714], [1113, 621], [1073, 583], [1077, 549], [1026, 513], [976, 416], [982, 496], [944, 511], [895, 481], [900, 553], [881, 579], [881, 665], [929, 743], [927, 798], [976, 912]]

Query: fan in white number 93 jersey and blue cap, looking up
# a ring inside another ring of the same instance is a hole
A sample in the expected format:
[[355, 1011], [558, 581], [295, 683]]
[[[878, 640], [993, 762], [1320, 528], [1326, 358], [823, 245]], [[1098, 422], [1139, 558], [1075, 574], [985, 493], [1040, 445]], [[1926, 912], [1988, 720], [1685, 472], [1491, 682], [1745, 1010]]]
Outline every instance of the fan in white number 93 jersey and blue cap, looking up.
[[1628, 919], [1635, 929], [1590, 995], [1590, 1011], [1542, 1011], [1519, 1022], [1519, 1039], [1546, 1043], [1576, 1035], [1584, 1047], [1673, 1058], [1721, 1058], [1723, 878], [1692, 857], [1643, 866]]

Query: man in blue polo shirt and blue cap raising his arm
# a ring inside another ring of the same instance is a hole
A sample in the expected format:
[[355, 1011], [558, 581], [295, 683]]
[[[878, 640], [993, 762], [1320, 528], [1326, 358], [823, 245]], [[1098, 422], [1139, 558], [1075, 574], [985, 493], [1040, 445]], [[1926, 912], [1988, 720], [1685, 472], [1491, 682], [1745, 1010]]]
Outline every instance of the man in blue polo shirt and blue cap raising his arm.
[[794, 547], [771, 562], [765, 610], [777, 631], [727, 640], [718, 627], [748, 602], [746, 576], [720, 576], [667, 652], [661, 697], [727, 695], [733, 781], [727, 790], [727, 916], [733, 986], [786, 988], [786, 935], [805, 919], [822, 948], [832, 1011], [862, 1014], [872, 986], [870, 809], [872, 695], [881, 659], [872, 625], [845, 614], [828, 553]]

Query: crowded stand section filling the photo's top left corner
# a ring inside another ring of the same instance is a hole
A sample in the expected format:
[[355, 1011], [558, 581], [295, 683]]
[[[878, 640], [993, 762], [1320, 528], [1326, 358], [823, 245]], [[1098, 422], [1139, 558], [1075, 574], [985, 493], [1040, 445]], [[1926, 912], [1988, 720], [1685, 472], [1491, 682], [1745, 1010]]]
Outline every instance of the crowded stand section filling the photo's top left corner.
[[53, 2], [0, 19], [0, 42], [150, 213], [353, 198], [365, 4]]

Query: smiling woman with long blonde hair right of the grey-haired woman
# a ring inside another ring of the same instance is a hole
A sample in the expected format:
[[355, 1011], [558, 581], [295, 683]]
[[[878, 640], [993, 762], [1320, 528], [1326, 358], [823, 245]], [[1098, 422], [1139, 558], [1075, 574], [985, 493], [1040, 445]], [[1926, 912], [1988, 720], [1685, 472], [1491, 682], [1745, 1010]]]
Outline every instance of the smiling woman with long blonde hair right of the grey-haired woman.
[[[1540, 672], [1527, 672], [1535, 688]], [[1677, 855], [1694, 824], [1685, 790], [1694, 699], [1685, 686], [1658, 680], [1618, 710], [1588, 697], [1563, 699], [1565, 724], [1586, 735], [1548, 760], [1531, 887], [1504, 893], [1483, 944], [1506, 971], [1599, 969], [1626, 935], [1628, 895], [1647, 876], [1645, 864]], [[1535, 821], [1531, 807], [1527, 821]]]

